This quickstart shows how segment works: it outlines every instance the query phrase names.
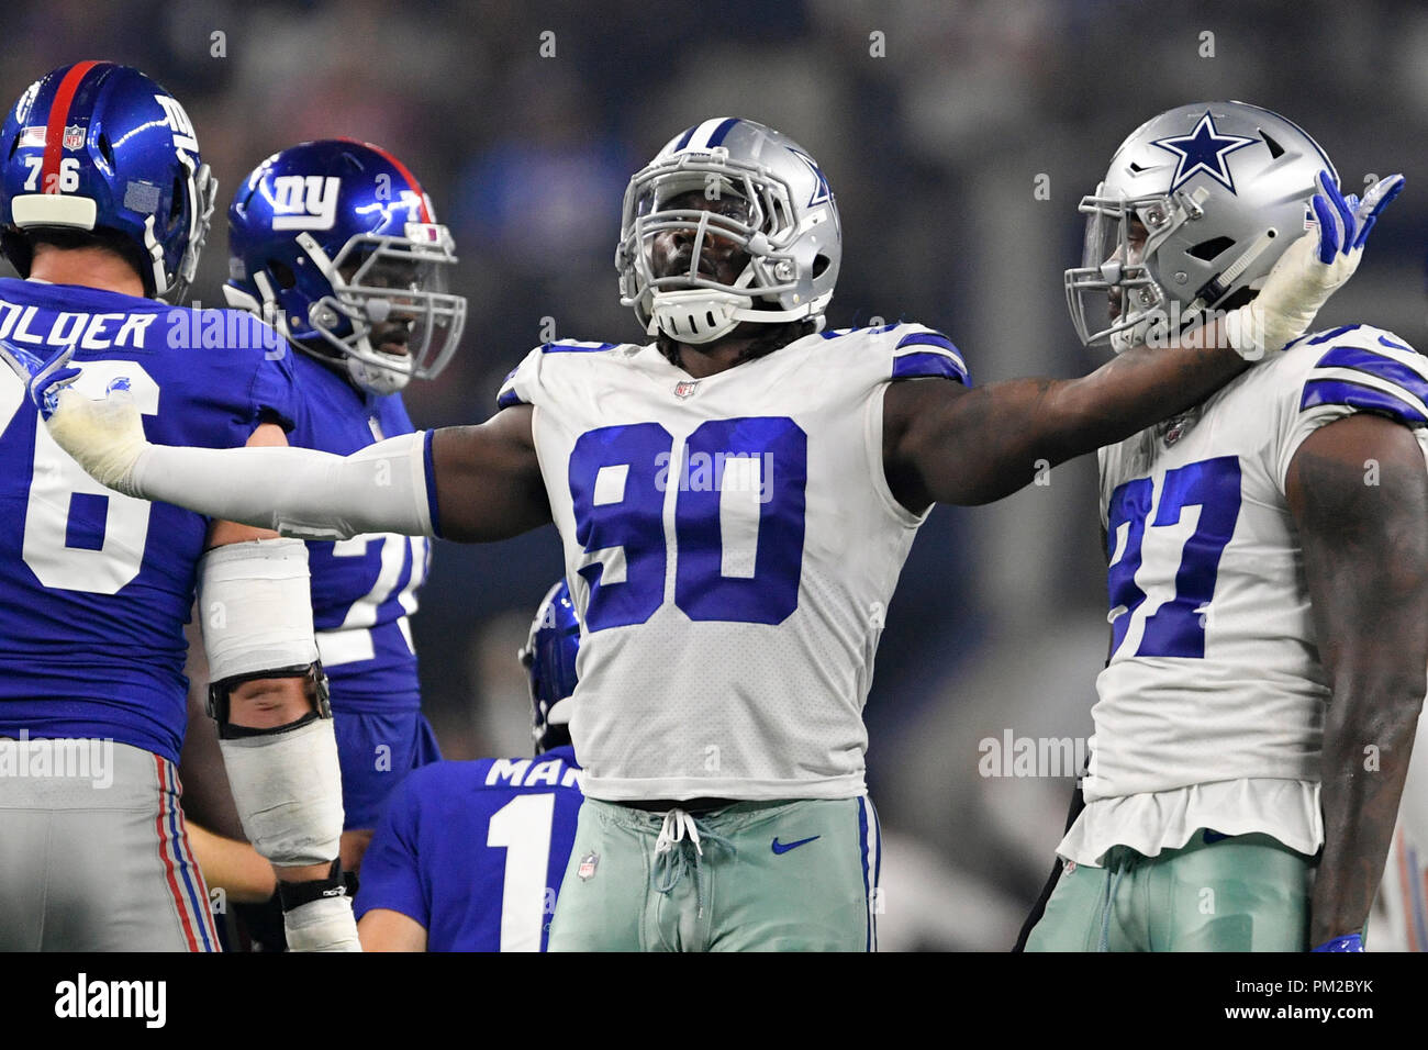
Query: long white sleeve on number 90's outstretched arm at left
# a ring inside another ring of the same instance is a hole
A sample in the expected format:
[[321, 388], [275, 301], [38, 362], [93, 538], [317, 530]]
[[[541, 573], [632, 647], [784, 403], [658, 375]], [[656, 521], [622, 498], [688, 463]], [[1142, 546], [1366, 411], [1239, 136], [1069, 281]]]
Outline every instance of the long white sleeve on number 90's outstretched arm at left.
[[150, 444], [134, 463], [131, 494], [304, 540], [431, 536], [427, 440], [427, 431], [403, 434], [351, 456]]

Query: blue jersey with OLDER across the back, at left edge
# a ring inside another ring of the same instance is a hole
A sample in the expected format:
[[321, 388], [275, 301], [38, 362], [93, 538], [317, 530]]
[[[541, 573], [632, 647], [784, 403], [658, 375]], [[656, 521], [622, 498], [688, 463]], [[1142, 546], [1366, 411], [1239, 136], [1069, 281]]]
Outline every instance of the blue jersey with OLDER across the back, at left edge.
[[[234, 310], [4, 279], [0, 341], [40, 359], [74, 343], [77, 389], [126, 377], [160, 444], [241, 446], [294, 417], [293, 356]], [[208, 524], [90, 479], [0, 369], [0, 736], [104, 737], [178, 761]]]

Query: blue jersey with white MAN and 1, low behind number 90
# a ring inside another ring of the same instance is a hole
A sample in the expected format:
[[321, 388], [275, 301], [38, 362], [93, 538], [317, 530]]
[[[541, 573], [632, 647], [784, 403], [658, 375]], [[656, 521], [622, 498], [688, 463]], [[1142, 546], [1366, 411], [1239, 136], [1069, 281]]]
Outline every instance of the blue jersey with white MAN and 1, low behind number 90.
[[411, 771], [363, 857], [357, 917], [400, 911], [428, 951], [544, 951], [580, 803], [570, 747]]

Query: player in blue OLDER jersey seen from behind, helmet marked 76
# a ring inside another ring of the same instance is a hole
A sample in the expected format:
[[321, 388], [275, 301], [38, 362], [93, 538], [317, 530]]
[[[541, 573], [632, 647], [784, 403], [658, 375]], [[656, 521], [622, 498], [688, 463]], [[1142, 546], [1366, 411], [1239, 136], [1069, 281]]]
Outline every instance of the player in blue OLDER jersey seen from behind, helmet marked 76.
[[[171, 306], [216, 191], [178, 101], [81, 61], [31, 84], [0, 141], [0, 236], [27, 279], [0, 280], [6, 359], [70, 347], [160, 440], [286, 444], [276, 333]], [[0, 950], [217, 949], [176, 776], [196, 584], [210, 713], [290, 944], [357, 950], [306, 547], [93, 484], [23, 390], [0, 371]]]

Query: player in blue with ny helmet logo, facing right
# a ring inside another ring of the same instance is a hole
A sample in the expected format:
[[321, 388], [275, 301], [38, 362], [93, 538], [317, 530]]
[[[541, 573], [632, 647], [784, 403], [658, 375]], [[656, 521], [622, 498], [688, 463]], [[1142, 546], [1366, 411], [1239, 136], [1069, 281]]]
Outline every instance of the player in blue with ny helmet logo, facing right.
[[[264, 317], [298, 350], [291, 444], [346, 456], [413, 431], [401, 390], [446, 367], [466, 299], [446, 291], [451, 236], [400, 160], [350, 139], [273, 154], [233, 197], [228, 254], [228, 304]], [[408, 627], [430, 553], [426, 537], [393, 533], [307, 544], [347, 870], [360, 866], [393, 787], [441, 757], [421, 714]]]

